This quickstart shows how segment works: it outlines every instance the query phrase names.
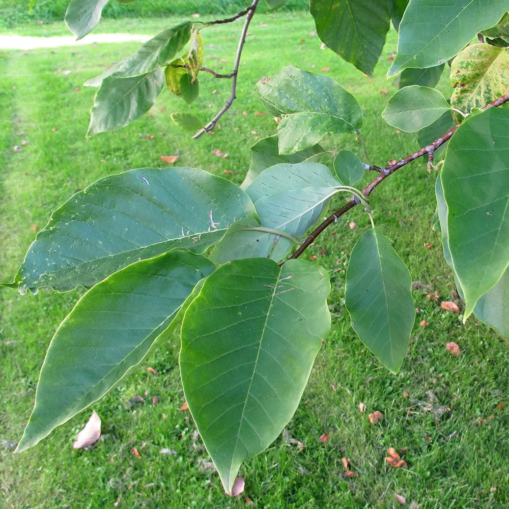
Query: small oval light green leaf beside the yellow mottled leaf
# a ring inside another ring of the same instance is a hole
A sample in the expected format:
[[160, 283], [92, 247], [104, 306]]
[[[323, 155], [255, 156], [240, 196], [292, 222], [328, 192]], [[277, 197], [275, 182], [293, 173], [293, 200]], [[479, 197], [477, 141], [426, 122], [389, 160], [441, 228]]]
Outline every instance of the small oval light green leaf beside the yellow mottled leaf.
[[415, 132], [433, 124], [449, 110], [450, 106], [440, 91], [411, 85], [390, 98], [382, 117], [393, 127]]

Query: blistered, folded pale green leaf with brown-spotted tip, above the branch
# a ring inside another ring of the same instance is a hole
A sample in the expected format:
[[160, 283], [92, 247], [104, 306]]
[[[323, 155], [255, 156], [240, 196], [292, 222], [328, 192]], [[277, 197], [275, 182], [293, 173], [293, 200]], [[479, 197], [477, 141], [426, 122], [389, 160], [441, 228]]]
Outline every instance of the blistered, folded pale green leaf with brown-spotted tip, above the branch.
[[260, 80], [257, 91], [267, 109], [282, 118], [277, 126], [280, 154], [313, 147], [329, 132], [344, 134], [362, 126], [355, 97], [322, 74], [285, 67]]

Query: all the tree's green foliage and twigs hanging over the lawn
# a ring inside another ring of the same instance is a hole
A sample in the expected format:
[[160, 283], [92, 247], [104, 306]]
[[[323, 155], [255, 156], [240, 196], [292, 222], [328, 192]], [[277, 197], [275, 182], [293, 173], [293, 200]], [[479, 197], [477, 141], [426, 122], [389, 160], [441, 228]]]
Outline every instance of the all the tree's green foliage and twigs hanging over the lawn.
[[[72, 0], [71, 31], [78, 38], [90, 32], [106, 3]], [[237, 16], [246, 16], [242, 44], [258, 4]], [[399, 90], [381, 114], [394, 128], [416, 132], [422, 150], [391, 166], [372, 165], [365, 151], [342, 150], [340, 135], [360, 137], [365, 124], [351, 91], [329, 76], [285, 67], [257, 84], [281, 121], [273, 136], [251, 147], [241, 186], [202, 169], [132, 169], [56, 209], [3, 286], [22, 294], [43, 287], [86, 292], [49, 344], [17, 451], [96, 402], [156, 340], [175, 341], [176, 330], [189, 410], [231, 494], [242, 462], [265, 450], [292, 418], [330, 328], [331, 269], [298, 255], [359, 203], [372, 227], [351, 253], [345, 307], [379, 362], [391, 372], [405, 366], [415, 320], [407, 257], [391, 245], [397, 239], [384, 236], [383, 220], [375, 227], [368, 198], [420, 156], [430, 171], [441, 168], [433, 222], [465, 299], [464, 320], [473, 313], [509, 336], [509, 109], [498, 107], [509, 98], [507, 8], [506, 0], [311, 0], [318, 36], [366, 74], [378, 63], [391, 21], [399, 31], [388, 69], [389, 76], [402, 73]], [[87, 85], [99, 89], [88, 135], [144, 115], [166, 87], [176, 103], [179, 95], [199, 100], [198, 74], [214, 79], [202, 67], [213, 24], [168, 27], [90, 79]], [[480, 33], [487, 42], [472, 43]], [[444, 67], [450, 82], [444, 78], [439, 91]], [[237, 72], [238, 65], [230, 77]], [[172, 118], [187, 130], [203, 125], [188, 112]], [[330, 146], [334, 135], [339, 150], [328, 167], [319, 143]], [[442, 164], [433, 160], [439, 148]], [[366, 172], [372, 169], [379, 173], [371, 184], [352, 187], [377, 175]], [[352, 196], [347, 206], [345, 191]], [[306, 240], [334, 204], [337, 213]]]

